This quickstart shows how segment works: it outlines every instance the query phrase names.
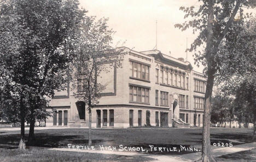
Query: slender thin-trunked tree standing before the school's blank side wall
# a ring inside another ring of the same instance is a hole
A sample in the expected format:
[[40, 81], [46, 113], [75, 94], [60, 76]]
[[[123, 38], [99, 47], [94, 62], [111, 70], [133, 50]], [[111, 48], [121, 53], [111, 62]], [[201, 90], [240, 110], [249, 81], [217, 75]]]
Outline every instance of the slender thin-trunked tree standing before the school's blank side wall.
[[86, 104], [89, 111], [89, 146], [91, 146], [91, 109], [98, 104], [101, 92], [107, 83], [97, 82], [100, 74], [108, 73], [109, 68], [121, 67], [122, 49], [114, 49], [112, 29], [107, 26], [108, 19], [95, 20], [87, 17], [79, 30], [77, 50], [73, 62], [73, 89], [75, 97]]

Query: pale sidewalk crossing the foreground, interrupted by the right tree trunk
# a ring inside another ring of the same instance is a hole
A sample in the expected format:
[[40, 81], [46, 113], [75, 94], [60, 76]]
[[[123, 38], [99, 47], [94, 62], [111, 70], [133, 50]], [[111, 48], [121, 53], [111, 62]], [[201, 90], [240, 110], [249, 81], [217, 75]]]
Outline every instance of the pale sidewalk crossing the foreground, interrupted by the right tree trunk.
[[[247, 151], [247, 150], [253, 149], [253, 148], [256, 148], [256, 142], [246, 143], [246, 144], [242, 144], [242, 145], [236, 145], [233, 147], [223, 147], [223, 148], [212, 149], [212, 155], [213, 155], [213, 157], [219, 157], [219, 156], [226, 155], [226, 154], [236, 153], [236, 152], [240, 152], [240, 151]], [[142, 154], [142, 153], [136, 153], [136, 152], [112, 152], [112, 151], [97, 151], [97, 150], [87, 150], [87, 149], [78, 149], [77, 150], [77, 149], [68, 149], [68, 148], [50, 148], [49, 150], [149, 157], [149, 158], [156, 159], [155, 161], [158, 161], [158, 162], [196, 161], [201, 158], [201, 152], [184, 154], [184, 155], [152, 155], [152, 154]]]

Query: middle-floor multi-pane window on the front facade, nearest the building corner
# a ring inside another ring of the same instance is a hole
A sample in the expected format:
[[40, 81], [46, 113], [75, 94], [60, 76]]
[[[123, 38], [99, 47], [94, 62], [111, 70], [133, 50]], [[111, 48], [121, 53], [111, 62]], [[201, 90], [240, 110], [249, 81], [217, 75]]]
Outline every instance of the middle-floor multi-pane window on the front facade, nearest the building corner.
[[130, 101], [149, 103], [149, 88], [130, 85]]

